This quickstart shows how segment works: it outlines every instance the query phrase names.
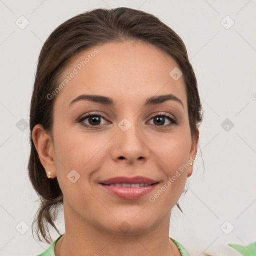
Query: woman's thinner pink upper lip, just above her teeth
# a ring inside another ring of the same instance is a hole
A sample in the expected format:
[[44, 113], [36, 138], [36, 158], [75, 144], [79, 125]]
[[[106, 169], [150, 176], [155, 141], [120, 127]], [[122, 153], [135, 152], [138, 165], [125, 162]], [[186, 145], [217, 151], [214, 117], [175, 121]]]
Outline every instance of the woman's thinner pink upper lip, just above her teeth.
[[117, 176], [117, 177], [112, 177], [108, 179], [104, 179], [99, 181], [99, 183], [102, 184], [112, 184], [112, 183], [125, 183], [125, 184], [137, 184], [137, 183], [148, 183], [148, 184], [153, 184], [156, 183], [156, 180], [153, 180], [148, 177], [143, 177], [143, 176], [134, 176], [134, 177], [125, 177], [125, 176]]

